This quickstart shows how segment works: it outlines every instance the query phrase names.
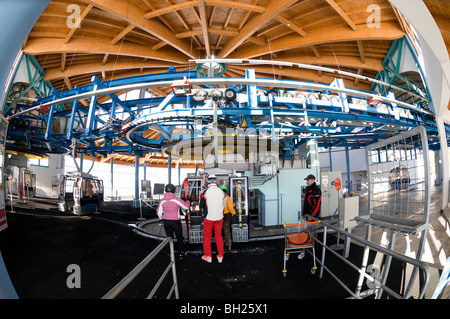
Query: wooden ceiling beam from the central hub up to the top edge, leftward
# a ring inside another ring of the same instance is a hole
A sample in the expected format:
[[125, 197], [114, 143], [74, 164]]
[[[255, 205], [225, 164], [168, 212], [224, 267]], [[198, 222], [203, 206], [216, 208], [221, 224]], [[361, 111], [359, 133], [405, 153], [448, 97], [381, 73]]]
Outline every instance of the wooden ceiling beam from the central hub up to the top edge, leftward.
[[167, 44], [174, 47], [181, 53], [188, 57], [195, 59], [192, 55], [189, 43], [175, 38], [175, 35], [166, 26], [154, 20], [147, 20], [144, 18], [145, 11], [133, 5], [127, 0], [83, 0], [89, 4], [100, 8], [111, 16], [124, 20], [129, 24], [134, 24], [136, 27], [145, 32], [157, 37]]

